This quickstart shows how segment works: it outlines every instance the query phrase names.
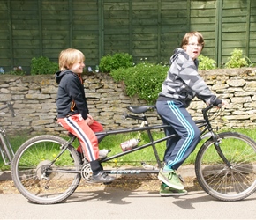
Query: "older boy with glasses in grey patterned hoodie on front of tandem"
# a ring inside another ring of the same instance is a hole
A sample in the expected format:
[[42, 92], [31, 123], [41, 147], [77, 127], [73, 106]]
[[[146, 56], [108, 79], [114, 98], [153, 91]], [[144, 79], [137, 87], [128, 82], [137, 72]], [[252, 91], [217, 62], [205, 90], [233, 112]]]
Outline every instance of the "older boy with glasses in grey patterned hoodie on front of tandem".
[[166, 136], [177, 134], [166, 143], [165, 165], [158, 174], [158, 179], [162, 180], [161, 195], [187, 194], [175, 171], [200, 141], [200, 130], [186, 110], [192, 99], [197, 97], [207, 105], [226, 105], [209, 90], [198, 73], [197, 58], [204, 44], [199, 32], [184, 35], [181, 48], [175, 49], [170, 57], [170, 68], [156, 102], [163, 123], [171, 125], [165, 129]]

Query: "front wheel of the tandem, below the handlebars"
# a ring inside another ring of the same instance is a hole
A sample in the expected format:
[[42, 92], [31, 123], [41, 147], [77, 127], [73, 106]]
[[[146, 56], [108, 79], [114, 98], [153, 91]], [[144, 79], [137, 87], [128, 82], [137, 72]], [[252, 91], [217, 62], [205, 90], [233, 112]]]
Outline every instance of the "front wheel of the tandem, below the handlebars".
[[248, 136], [224, 132], [219, 134], [226, 165], [215, 149], [213, 139], [200, 148], [195, 172], [200, 186], [218, 200], [243, 200], [256, 189], [256, 143]]

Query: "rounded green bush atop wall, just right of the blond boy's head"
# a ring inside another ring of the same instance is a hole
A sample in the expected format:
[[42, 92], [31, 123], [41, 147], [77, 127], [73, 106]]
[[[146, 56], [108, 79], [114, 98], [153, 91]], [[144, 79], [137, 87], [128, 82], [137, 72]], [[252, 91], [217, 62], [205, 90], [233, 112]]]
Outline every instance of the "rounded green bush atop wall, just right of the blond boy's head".
[[119, 68], [132, 67], [132, 55], [127, 53], [117, 53], [115, 55], [105, 55], [102, 57], [99, 68], [102, 72], [110, 72]]

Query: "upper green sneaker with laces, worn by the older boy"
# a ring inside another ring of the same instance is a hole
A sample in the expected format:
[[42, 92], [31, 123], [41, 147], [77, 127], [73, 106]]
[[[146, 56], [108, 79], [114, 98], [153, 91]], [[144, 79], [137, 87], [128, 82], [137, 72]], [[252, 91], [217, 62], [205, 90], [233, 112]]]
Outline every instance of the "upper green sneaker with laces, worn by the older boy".
[[158, 173], [158, 179], [165, 183], [168, 187], [172, 187], [178, 190], [184, 189], [184, 186], [182, 185], [180, 179], [177, 176], [177, 173], [174, 171], [163, 172], [161, 169]]

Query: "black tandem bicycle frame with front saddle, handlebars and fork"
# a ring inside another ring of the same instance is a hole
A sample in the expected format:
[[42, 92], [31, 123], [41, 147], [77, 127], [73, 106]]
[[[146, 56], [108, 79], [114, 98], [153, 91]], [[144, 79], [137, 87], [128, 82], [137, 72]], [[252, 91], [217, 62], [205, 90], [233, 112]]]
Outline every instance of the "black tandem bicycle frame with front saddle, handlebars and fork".
[[[165, 124], [148, 126], [147, 116], [145, 115], [145, 113], [147, 112], [148, 109], [153, 109], [154, 106], [142, 106], [142, 107], [144, 107], [144, 111], [141, 111], [141, 112], [136, 112], [135, 110], [133, 111], [132, 109], [129, 109], [133, 114], [142, 114], [142, 116], [127, 114], [127, 115], [125, 115], [125, 118], [132, 118], [134, 120], [142, 121], [142, 123], [144, 124], [143, 127], [124, 128], [124, 129], [117, 129], [117, 130], [108, 130], [108, 131], [102, 131], [102, 132], [95, 132], [95, 135], [98, 137], [98, 142], [100, 143], [102, 141], [102, 139], [106, 136], [124, 134], [124, 133], [131, 133], [131, 132], [147, 131], [147, 136], [149, 137], [150, 141], [148, 143], [143, 144], [143, 145], [137, 146], [137, 147], [133, 148], [132, 150], [123, 151], [123, 152], [117, 153], [113, 156], [110, 156], [108, 158], [102, 158], [101, 163], [109, 162], [110, 160], [113, 160], [115, 158], [120, 158], [124, 155], [131, 154], [132, 152], [142, 150], [144, 148], [152, 146], [152, 148], [154, 150], [154, 157], [156, 159], [157, 167], [150, 165], [150, 167], [147, 168], [147, 169], [139, 169], [138, 166], [135, 166], [134, 168], [129, 169], [129, 170], [127, 170], [127, 169], [126, 170], [121, 170], [121, 169], [113, 168], [113, 169], [110, 169], [110, 170], [104, 170], [104, 172], [107, 172], [109, 174], [158, 173], [160, 168], [162, 167], [162, 160], [159, 158], [158, 151], [156, 149], [155, 144], [156, 143], [162, 143], [163, 141], [167, 141], [167, 140], [169, 140], [169, 139], [171, 139], [171, 138], [173, 138], [177, 135], [172, 134], [172, 135], [164, 136], [162, 138], [158, 138], [157, 140], [154, 140], [154, 137], [152, 136], [152, 133], [151, 133], [152, 130], [169, 128], [171, 126], [170, 125], [165, 125]], [[222, 150], [219, 146], [218, 134], [216, 134], [213, 131], [210, 120], [208, 119], [208, 116], [207, 116], [207, 111], [212, 107], [213, 107], [213, 105], [210, 105], [210, 106], [207, 106], [205, 109], [203, 109], [202, 113], [203, 113], [204, 119], [203, 120], [197, 120], [197, 121], [195, 121], [195, 123], [198, 126], [198, 128], [200, 128], [200, 139], [202, 140], [202, 139], [206, 139], [206, 138], [207, 139], [208, 138], [213, 138], [213, 140], [215, 141], [216, 151], [218, 152], [219, 156], [222, 158], [222, 161], [231, 168], [231, 165], [230, 165], [229, 161], [224, 157], [224, 155], [222, 153]], [[147, 109], [147, 110], [145, 110], [145, 109]], [[59, 158], [63, 154], [64, 150], [66, 150], [66, 148], [75, 141], [76, 136], [73, 136], [72, 134], [70, 134], [70, 136], [71, 136], [71, 138], [63, 145], [62, 152], [60, 152], [59, 155], [55, 158], [55, 160], [52, 161], [52, 163], [49, 165], [49, 167], [52, 164], [54, 164], [56, 159]], [[56, 170], [56, 171], [51, 171], [51, 172], [79, 173], [80, 171]]]

